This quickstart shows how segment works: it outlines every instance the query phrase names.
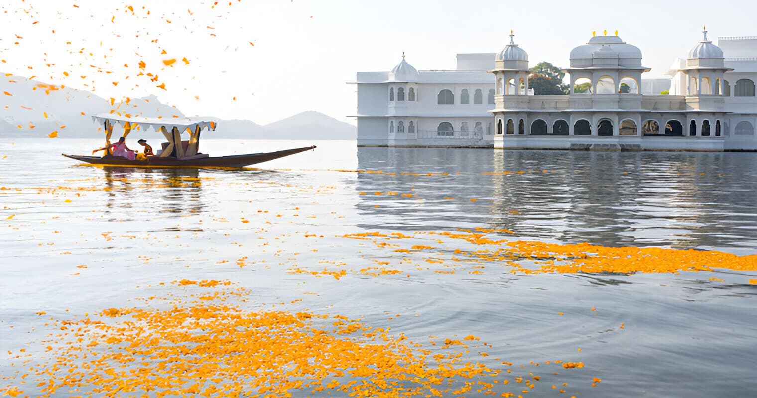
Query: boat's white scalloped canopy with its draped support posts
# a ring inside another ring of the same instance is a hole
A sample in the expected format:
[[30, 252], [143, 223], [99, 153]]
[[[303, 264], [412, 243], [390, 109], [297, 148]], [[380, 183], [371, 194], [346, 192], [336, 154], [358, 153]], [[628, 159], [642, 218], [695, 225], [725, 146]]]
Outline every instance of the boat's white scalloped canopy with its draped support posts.
[[[204, 120], [190, 117], [125, 117], [114, 113], [98, 113], [92, 115], [92, 120], [102, 123], [105, 132], [105, 146], [111, 145], [113, 126], [123, 128], [123, 137], [126, 138], [132, 129], [147, 131], [153, 129], [160, 132], [168, 141], [168, 145], [160, 157], [194, 157], [198, 154], [200, 132], [202, 129], [215, 130], [215, 120]], [[189, 135], [188, 141], [182, 141], [182, 132]], [[207, 156], [207, 155], [206, 155]]]

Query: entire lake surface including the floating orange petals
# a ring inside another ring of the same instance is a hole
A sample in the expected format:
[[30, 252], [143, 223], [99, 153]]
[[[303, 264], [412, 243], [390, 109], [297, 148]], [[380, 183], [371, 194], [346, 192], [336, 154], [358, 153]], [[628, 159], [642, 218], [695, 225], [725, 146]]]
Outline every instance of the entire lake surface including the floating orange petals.
[[0, 141], [0, 395], [757, 390], [757, 154], [101, 145]]

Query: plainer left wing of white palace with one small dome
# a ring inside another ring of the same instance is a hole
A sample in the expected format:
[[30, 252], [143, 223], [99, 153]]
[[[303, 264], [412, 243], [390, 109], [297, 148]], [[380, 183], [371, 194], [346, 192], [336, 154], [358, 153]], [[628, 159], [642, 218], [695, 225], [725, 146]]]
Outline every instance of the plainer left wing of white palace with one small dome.
[[358, 146], [493, 146], [494, 54], [457, 54], [456, 70], [358, 72]]

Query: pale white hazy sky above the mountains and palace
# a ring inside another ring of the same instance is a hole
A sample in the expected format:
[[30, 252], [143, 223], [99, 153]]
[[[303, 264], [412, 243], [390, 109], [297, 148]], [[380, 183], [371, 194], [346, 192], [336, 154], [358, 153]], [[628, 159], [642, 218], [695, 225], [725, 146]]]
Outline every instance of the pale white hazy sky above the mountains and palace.
[[211, 7], [198, 0], [6, 0], [0, 72], [94, 87], [117, 101], [154, 94], [188, 115], [269, 123], [317, 110], [354, 123], [347, 115], [355, 113], [355, 88], [346, 82], [357, 71], [391, 70], [403, 51], [419, 70], [454, 69], [457, 53], [498, 52], [515, 30], [531, 66], [567, 67], [571, 49], [593, 30], [618, 30], [641, 49], [652, 68], [644, 76], [653, 77], [685, 58], [703, 25], [715, 44], [718, 36], [757, 36], [757, 5], [748, 0], [226, 0]]

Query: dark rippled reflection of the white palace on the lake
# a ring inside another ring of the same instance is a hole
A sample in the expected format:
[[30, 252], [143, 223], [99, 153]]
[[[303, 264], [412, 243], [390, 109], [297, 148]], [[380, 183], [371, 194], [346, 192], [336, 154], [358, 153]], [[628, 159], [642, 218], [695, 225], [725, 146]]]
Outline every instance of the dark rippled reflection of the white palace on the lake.
[[757, 246], [753, 154], [358, 148], [357, 157], [382, 172], [357, 179], [366, 229], [490, 225], [554, 241]]

